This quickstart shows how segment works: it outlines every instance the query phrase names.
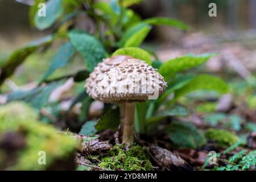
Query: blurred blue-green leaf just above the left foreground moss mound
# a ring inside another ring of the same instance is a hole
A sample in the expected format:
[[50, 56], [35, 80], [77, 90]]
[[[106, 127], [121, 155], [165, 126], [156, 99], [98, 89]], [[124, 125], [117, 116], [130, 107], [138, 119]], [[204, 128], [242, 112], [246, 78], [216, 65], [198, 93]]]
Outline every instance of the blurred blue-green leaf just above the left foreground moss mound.
[[62, 83], [63, 81], [51, 82], [46, 86], [39, 86], [32, 90], [17, 90], [8, 96], [7, 101], [25, 101], [34, 108], [41, 109], [46, 106], [52, 91]]

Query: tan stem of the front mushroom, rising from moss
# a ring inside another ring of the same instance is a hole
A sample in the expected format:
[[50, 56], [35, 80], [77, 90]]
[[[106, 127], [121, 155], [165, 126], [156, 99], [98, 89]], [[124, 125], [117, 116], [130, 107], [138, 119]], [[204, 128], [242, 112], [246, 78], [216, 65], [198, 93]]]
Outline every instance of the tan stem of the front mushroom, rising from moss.
[[123, 126], [123, 143], [133, 144], [135, 102], [126, 103], [125, 106], [125, 125]]

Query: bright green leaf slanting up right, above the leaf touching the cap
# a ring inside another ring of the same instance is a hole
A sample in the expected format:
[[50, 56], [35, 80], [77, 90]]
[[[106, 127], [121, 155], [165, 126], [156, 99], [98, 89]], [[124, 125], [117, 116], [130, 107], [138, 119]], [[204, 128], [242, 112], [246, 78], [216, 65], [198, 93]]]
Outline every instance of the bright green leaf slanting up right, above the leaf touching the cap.
[[150, 32], [150, 30], [150, 26], [143, 27], [141, 30], [130, 36], [130, 38], [126, 40], [123, 47], [139, 47]]

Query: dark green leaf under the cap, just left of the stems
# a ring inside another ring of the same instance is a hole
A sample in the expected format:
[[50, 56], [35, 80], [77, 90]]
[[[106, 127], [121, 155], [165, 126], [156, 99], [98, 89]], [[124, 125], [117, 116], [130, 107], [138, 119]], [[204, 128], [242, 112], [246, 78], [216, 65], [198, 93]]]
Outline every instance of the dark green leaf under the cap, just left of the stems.
[[119, 126], [119, 109], [108, 110], [95, 125], [97, 131], [102, 131], [106, 129], [117, 129]]

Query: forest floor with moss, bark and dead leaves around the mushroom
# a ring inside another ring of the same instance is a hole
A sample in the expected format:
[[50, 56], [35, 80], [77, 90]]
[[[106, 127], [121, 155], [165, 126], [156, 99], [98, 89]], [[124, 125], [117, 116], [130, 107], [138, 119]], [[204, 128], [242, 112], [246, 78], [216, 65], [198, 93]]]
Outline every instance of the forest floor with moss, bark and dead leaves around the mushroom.
[[[222, 77], [228, 82], [230, 93], [218, 97], [212, 92], [200, 91], [178, 100], [179, 105], [188, 108], [189, 114], [163, 119], [151, 135], [135, 134], [135, 144], [130, 150], [121, 144], [119, 130], [109, 129], [96, 134], [93, 129], [81, 130], [80, 133], [80, 129], [76, 129], [79, 134], [72, 135], [82, 143], [75, 155], [77, 170], [255, 170], [256, 46], [240, 40], [216, 40], [216, 37], [201, 34], [189, 35], [179, 47], [168, 49], [164, 46], [157, 54], [161, 60], [167, 60], [189, 52], [216, 52], [216, 56], [195, 72]], [[80, 61], [72, 65], [73, 69], [79, 67]], [[47, 67], [48, 63], [40, 64]], [[22, 67], [7, 82], [4, 90], [24, 86], [38, 73], [32, 61]], [[44, 66], [39, 69], [44, 70]], [[74, 89], [67, 86], [67, 89], [71, 88]], [[59, 97], [63, 99], [63, 108], [67, 107], [67, 100], [72, 96], [67, 91], [70, 90], [61, 91]], [[4, 101], [4, 97], [1, 95], [0, 98]], [[96, 103], [89, 111], [90, 121], [101, 117], [102, 112], [102, 104]], [[68, 117], [67, 120], [77, 118], [77, 110], [74, 109]], [[67, 121], [61, 120], [53, 125], [67, 128]], [[171, 134], [161, 133], [167, 126], [171, 128]], [[88, 133], [90, 137], [85, 136]], [[205, 140], [202, 146], [197, 146], [197, 142], [202, 142], [198, 135]]]

